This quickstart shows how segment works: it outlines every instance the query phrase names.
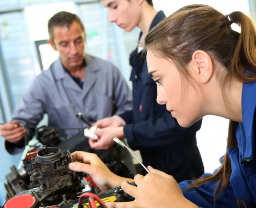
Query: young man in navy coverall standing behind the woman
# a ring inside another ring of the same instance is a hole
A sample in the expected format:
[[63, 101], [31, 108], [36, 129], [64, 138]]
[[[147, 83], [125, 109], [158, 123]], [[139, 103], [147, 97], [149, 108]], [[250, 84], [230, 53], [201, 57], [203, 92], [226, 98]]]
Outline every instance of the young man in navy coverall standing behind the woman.
[[139, 149], [145, 166], [164, 171], [178, 182], [197, 178], [204, 173], [196, 132], [202, 120], [189, 128], [181, 127], [165, 106], [158, 105], [157, 86], [148, 76], [146, 54], [143, 55], [144, 37], [166, 16], [157, 12], [152, 0], [101, 0], [109, 10], [109, 21], [129, 32], [141, 29], [138, 47], [130, 55], [133, 83], [133, 110], [97, 121], [101, 127], [95, 134], [98, 140], [89, 140], [95, 149], [107, 149], [113, 138], [126, 138], [129, 146]]

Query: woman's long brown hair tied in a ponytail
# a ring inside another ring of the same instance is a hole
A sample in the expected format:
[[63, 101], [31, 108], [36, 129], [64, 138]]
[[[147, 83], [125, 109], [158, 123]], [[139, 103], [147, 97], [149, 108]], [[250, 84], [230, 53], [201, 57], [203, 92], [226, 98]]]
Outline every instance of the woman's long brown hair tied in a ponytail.
[[[191, 7], [191, 9], [188, 9]], [[240, 82], [256, 81], [256, 33], [248, 16], [240, 11], [234, 11], [228, 17], [210, 6], [187, 6], [162, 20], [145, 38], [145, 49], [150, 49], [155, 55], [171, 59], [177, 66], [180, 75], [191, 75], [188, 64], [195, 50], [204, 50], [211, 57], [214, 73], [223, 90], [224, 100], [228, 95], [225, 89], [230, 86], [231, 80]], [[237, 23], [241, 33], [231, 29], [230, 23]], [[223, 66], [225, 70], [217, 71], [216, 66]], [[252, 73], [246, 73], [247, 70]], [[186, 75], [186, 76], [185, 76]], [[189, 77], [188, 77], [189, 76]], [[227, 105], [226, 105], [227, 106]], [[227, 148], [237, 148], [235, 129], [237, 122], [229, 122]], [[209, 181], [217, 180], [214, 191], [214, 200], [226, 189], [231, 175], [231, 162], [226, 152], [222, 166], [210, 176], [194, 181], [189, 188], [196, 188]], [[245, 203], [238, 200], [238, 204]]]

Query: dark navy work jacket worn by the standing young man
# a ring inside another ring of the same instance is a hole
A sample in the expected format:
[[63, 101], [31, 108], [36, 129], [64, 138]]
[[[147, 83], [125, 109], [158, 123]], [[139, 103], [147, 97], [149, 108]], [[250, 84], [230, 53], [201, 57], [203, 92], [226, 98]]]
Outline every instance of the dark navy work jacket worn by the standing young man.
[[[165, 17], [164, 12], [159, 11], [150, 25], [149, 31]], [[165, 105], [159, 105], [156, 102], [157, 86], [153, 79], [148, 76], [146, 56], [142, 54], [137, 53], [136, 48], [130, 55], [133, 110], [120, 115], [127, 124], [124, 126], [124, 135], [127, 142], [134, 150], [139, 149], [141, 151], [145, 165], [152, 165], [172, 175], [173, 171], [168, 171], [168, 167], [166, 167], [171, 166], [171, 164], [167, 163], [172, 163], [174, 158], [177, 159], [179, 155], [183, 157], [182, 154], [186, 154], [184, 151], [189, 151], [192, 154], [191, 158], [195, 155], [194, 163], [200, 164], [198, 166], [195, 164], [194, 167], [196, 170], [200, 169], [196, 174], [196, 176], [200, 176], [201, 173], [203, 174], [203, 164], [196, 146], [195, 133], [200, 129], [202, 120], [197, 121], [189, 128], [183, 128], [176, 119], [172, 118]], [[182, 142], [179, 145], [181, 148], [178, 148], [176, 143], [179, 141]], [[184, 146], [191, 148], [186, 149]], [[182, 149], [182, 147], [184, 148]], [[173, 153], [171, 153], [171, 150], [173, 150]], [[177, 164], [183, 162], [178, 160]], [[159, 163], [161, 163], [161, 166], [159, 166]], [[173, 169], [177, 168], [177, 165], [174, 166], [176, 167], [173, 167]], [[183, 169], [186, 170], [187, 168], [183, 167]], [[191, 172], [190, 170], [187, 171]]]

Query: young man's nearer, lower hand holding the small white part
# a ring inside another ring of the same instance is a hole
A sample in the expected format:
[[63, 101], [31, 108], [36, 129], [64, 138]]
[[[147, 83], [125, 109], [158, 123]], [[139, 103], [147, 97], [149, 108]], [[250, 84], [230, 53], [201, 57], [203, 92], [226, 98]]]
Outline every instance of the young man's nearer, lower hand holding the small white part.
[[98, 136], [98, 139], [90, 139], [89, 138], [89, 145], [92, 149], [109, 149], [115, 143], [113, 140], [114, 137], [119, 139], [124, 138], [123, 126], [119, 127], [106, 127], [96, 129], [95, 135]]

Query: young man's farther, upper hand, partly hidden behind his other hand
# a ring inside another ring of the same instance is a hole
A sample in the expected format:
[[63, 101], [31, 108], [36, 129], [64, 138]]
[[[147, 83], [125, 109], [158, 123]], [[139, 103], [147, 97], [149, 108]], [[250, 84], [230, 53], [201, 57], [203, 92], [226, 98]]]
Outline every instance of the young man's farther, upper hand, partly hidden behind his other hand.
[[101, 120], [98, 120], [96, 123], [92, 124], [92, 126], [97, 126], [99, 128], [105, 127], [118, 127], [125, 126], [125, 121], [119, 115], [113, 115], [111, 117], [107, 117]]

